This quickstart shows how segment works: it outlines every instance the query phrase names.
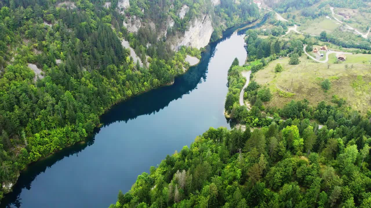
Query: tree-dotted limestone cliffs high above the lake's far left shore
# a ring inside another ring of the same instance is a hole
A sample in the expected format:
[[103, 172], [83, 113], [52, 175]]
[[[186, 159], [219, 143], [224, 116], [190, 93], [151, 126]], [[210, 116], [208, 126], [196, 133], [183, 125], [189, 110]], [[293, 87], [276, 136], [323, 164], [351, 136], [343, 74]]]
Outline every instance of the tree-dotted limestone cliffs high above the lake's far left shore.
[[[214, 39], [220, 37], [221, 31], [225, 30], [227, 26], [225, 21], [215, 15], [214, 7], [221, 6], [223, 5], [221, 5], [220, 0], [206, 0], [205, 6], [198, 8], [199, 14], [195, 15], [194, 8], [192, 10], [190, 5], [168, 4], [163, 7], [164, 14], [167, 14], [167, 16], [163, 16], [161, 21], [158, 21], [154, 19], [158, 16], [154, 15], [153, 11], [148, 8], [137, 8], [137, 12], [142, 11], [144, 13], [145, 18], [141, 19], [139, 16], [132, 15], [132, 13], [123, 12], [130, 7], [128, 0], [119, 0], [118, 2], [118, 10], [125, 13], [123, 26], [127, 28], [128, 32], [137, 33], [139, 28], [147, 29], [144, 31], [148, 31], [148, 28], [150, 28], [151, 31], [155, 32], [157, 40], [165, 40], [166, 44], [169, 44], [173, 50], [178, 50], [181, 46], [191, 46], [199, 49], [209, 44], [212, 35]], [[152, 14], [148, 15], [147, 12], [152, 12]], [[184, 23], [184, 21], [189, 22]], [[153, 24], [154, 22], [156, 24]], [[183, 29], [181, 28], [183, 26], [186, 27]], [[214, 28], [217, 31], [215, 34], [213, 34]]]

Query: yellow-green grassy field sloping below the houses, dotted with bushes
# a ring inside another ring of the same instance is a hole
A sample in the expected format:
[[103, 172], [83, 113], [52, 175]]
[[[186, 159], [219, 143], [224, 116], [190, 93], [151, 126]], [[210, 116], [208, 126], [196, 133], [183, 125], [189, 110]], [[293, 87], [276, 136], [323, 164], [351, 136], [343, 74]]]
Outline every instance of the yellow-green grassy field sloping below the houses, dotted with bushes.
[[[254, 80], [262, 85], [268, 85], [274, 94], [269, 104], [282, 107], [291, 100], [306, 98], [315, 105], [322, 100], [330, 104], [332, 95], [345, 98], [347, 104], [362, 113], [370, 110], [371, 106], [371, 55], [348, 55], [347, 61], [335, 64], [334, 54], [328, 63], [314, 63], [306, 56], [300, 58], [298, 65], [289, 65], [289, 58], [272, 61], [267, 67], [254, 74]], [[281, 73], [275, 73], [274, 67], [280, 63]], [[331, 80], [332, 87], [325, 92], [319, 85], [322, 80]]]

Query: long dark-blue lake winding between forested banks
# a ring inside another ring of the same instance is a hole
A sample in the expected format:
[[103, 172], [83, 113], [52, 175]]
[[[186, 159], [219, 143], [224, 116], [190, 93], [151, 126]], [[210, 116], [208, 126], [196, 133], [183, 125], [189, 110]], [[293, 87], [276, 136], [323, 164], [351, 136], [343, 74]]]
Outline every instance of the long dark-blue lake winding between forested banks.
[[[266, 17], [254, 27], [266, 21]], [[206, 47], [200, 63], [157, 88], [115, 105], [86, 142], [31, 164], [0, 207], [104, 208], [127, 192], [137, 176], [210, 127], [229, 127], [224, 117], [227, 71], [246, 59], [244, 32], [224, 32]]]

